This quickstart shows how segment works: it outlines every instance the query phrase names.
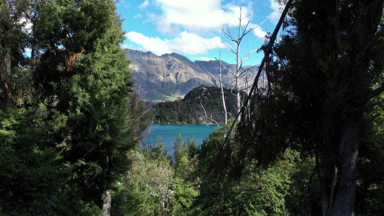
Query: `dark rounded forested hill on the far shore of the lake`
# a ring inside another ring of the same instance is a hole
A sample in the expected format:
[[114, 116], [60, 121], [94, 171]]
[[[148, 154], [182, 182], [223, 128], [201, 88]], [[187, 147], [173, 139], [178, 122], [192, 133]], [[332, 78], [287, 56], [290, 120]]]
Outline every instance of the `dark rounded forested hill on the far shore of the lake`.
[[[228, 117], [235, 115], [236, 103], [232, 91], [224, 89], [224, 98]], [[200, 86], [190, 91], [183, 99], [160, 102], [153, 108], [156, 121], [161, 123], [214, 123], [205, 113], [220, 124], [225, 122], [221, 89], [215, 86]]]

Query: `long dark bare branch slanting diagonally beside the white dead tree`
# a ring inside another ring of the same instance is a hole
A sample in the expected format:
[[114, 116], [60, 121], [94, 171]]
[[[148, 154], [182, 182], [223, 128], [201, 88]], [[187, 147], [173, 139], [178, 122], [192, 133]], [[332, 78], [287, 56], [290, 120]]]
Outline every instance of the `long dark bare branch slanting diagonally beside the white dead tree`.
[[[260, 74], [261, 74], [261, 72], [262, 72], [262, 70], [263, 70], [263, 68], [264, 68], [265, 60], [266, 60], [266, 58], [268, 57], [269, 53], [270, 53], [271, 50], [272, 50], [272, 47], [273, 47], [273, 44], [275, 43], [277, 34], [278, 34], [279, 30], [280, 30], [281, 25], [283, 24], [283, 21], [284, 21], [284, 19], [285, 19], [286, 14], [288, 13], [289, 8], [290, 8], [291, 5], [292, 5], [292, 2], [293, 2], [293, 0], [288, 0], [288, 2], [287, 2], [286, 5], [285, 5], [285, 8], [284, 8], [284, 10], [283, 10], [283, 13], [281, 13], [281, 17], [280, 17], [279, 22], [277, 23], [277, 25], [276, 25], [276, 27], [275, 27], [275, 30], [274, 30], [273, 33], [272, 33], [272, 36], [271, 36], [270, 41], [268, 42], [267, 50], [266, 50], [265, 53], [264, 53], [264, 58], [263, 58], [262, 62], [260, 63], [259, 70], [258, 70], [258, 72], [257, 72], [257, 75], [256, 75], [256, 77], [255, 77], [255, 80], [253, 80], [253, 85], [252, 85], [252, 88], [251, 88], [251, 90], [250, 90], [250, 93], [248, 94], [248, 97], [247, 97], [247, 100], [246, 100], [246, 101], [249, 101], [249, 100], [250, 100], [250, 98], [251, 98], [251, 96], [252, 96], [252, 92], [255, 91], [255, 88], [257, 88], [257, 82], [258, 82], [258, 79], [259, 79], [259, 77], [260, 77]], [[242, 108], [241, 108], [241, 110], [240, 110], [240, 112], [237, 113], [237, 115], [236, 115], [236, 119], [239, 118], [239, 116], [243, 113], [244, 109], [245, 109], [245, 105], [243, 105]], [[230, 130], [228, 131], [228, 135], [227, 135], [227, 137], [229, 137], [230, 133], [232, 132], [233, 127], [235, 126], [235, 123], [236, 123], [236, 121], [233, 121], [232, 126], [231, 126]], [[222, 148], [223, 148], [223, 146], [222, 146]], [[220, 150], [220, 151], [221, 151], [221, 150]]]

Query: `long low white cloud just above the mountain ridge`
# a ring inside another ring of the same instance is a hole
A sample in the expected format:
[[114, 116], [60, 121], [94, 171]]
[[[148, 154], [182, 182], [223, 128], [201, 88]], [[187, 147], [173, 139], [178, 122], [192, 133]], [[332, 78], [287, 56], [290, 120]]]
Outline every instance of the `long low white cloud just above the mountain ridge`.
[[208, 50], [224, 48], [220, 37], [203, 38], [195, 33], [182, 32], [177, 37], [171, 39], [161, 39], [159, 37], [147, 37], [142, 33], [128, 32], [127, 40], [139, 45], [142, 51], [151, 51], [156, 55], [164, 53], [186, 53], [190, 55], [204, 54]]

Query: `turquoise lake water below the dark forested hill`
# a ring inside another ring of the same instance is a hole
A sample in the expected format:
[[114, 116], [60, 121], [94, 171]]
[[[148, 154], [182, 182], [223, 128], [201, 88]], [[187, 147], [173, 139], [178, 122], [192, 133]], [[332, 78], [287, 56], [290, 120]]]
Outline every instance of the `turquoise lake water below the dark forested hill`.
[[[209, 125], [212, 128], [216, 128], [217, 125]], [[173, 146], [179, 133], [183, 136], [183, 141], [195, 138], [196, 145], [199, 146], [203, 143], [203, 140], [208, 137], [209, 128], [207, 125], [189, 125], [189, 124], [153, 124], [152, 128], [156, 128], [154, 131], [149, 133], [143, 143], [153, 144], [157, 143], [157, 137], [161, 137], [161, 141], [164, 143], [164, 147], [167, 148], [168, 154], [173, 155]]]

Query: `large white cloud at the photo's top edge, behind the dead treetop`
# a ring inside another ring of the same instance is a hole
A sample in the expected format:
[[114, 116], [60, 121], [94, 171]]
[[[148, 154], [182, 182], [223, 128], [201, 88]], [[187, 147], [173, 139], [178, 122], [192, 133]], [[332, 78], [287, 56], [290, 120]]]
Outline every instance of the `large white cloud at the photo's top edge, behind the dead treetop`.
[[[240, 8], [238, 5], [222, 5], [222, 0], [155, 0], [156, 6], [162, 10], [161, 15], [151, 14], [149, 21], [157, 25], [162, 33], [177, 33], [181, 28], [188, 32], [220, 32], [223, 24], [236, 27]], [[252, 18], [251, 4], [243, 3], [242, 22]]]

